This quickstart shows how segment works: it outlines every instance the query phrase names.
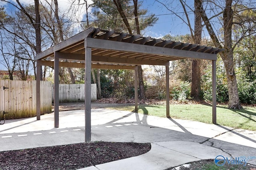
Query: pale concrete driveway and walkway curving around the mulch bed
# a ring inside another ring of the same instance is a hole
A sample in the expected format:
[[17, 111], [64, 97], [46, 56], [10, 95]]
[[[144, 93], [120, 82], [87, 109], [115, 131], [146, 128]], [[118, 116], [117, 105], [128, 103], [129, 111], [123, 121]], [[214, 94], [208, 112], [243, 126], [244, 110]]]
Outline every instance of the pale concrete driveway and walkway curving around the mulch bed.
[[[84, 142], [84, 110], [60, 112], [59, 125], [54, 128], [53, 113], [40, 121], [7, 120], [0, 126], [0, 151]], [[92, 141], [151, 142], [152, 150], [86, 170], [164, 170], [218, 155], [256, 156], [254, 131], [104, 108], [92, 109]], [[256, 159], [248, 163], [256, 165]]]

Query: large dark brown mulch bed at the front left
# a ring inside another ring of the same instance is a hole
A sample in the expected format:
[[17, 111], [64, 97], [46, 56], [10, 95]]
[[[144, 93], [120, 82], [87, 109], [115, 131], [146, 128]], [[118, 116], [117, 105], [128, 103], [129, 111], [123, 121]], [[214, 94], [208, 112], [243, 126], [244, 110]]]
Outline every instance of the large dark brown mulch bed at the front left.
[[150, 143], [92, 142], [0, 152], [0, 170], [76, 170], [144, 154]]

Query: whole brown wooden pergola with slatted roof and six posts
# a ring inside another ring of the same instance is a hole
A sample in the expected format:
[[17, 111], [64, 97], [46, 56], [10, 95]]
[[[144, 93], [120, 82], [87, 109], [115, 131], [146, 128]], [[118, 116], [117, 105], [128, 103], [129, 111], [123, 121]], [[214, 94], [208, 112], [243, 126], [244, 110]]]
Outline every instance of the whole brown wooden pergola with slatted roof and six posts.
[[219, 48], [88, 28], [36, 56], [36, 115], [40, 120], [40, 66], [54, 66], [54, 127], [59, 127], [59, 67], [85, 68], [85, 142], [91, 140], [91, 69], [130, 69], [135, 76], [138, 112], [138, 65], [166, 66], [166, 116], [170, 117], [169, 63], [182, 58], [212, 60], [212, 122], [216, 124], [216, 60]]

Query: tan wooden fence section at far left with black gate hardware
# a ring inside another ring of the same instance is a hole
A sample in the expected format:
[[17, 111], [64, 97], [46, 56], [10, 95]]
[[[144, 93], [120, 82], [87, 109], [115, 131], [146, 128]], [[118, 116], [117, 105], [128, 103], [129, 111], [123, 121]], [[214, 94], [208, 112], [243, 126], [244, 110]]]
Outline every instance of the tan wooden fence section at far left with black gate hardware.
[[[52, 85], [40, 81], [41, 114], [52, 111]], [[36, 81], [0, 80], [0, 111], [6, 119], [36, 116]]]

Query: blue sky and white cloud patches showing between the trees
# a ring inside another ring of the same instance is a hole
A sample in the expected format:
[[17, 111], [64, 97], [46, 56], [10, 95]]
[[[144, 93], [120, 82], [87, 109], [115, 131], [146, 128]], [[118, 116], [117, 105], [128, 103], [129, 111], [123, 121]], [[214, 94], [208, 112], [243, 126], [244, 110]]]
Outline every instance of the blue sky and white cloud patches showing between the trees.
[[[51, 2], [52, 0], [48, 0], [48, 2]], [[185, 23], [180, 20], [173, 12], [169, 11], [164, 7], [162, 4], [159, 2], [169, 2], [170, 4], [166, 4], [166, 6], [170, 7], [170, 10], [173, 10], [174, 12], [178, 12], [178, 14], [181, 17], [183, 13], [183, 9], [180, 6], [180, 2], [178, 0], [159, 0], [157, 2], [156, 0], [139, 0], [142, 2], [142, 8], [145, 8], [148, 10], [148, 14], [155, 14], [158, 17], [158, 21], [154, 26], [148, 28], [145, 32], [143, 32], [143, 36], [151, 36], [154, 38], [162, 38], [162, 36], [166, 34], [171, 34], [171, 35], [184, 35], [184, 34], [190, 34], [190, 31], [188, 30], [188, 27], [186, 26]], [[10, 0], [10, 2], [13, 2], [16, 4], [16, 0]], [[34, 4], [34, 0], [20, 0], [22, 4]], [[41, 2], [44, 4], [45, 0], [41, 0]], [[61, 11], [65, 11], [66, 8], [70, 5], [70, 0], [58, 0], [59, 7], [61, 8]], [[82, 1], [81, 1], [82, 2]], [[187, 0], [186, 3], [191, 3], [192, 6], [194, 4], [193, 0]], [[4, 2], [0, 1], [0, 6], [5, 6], [6, 10], [8, 12], [11, 12], [13, 8], [11, 8], [10, 5], [7, 5]], [[81, 7], [80, 12], [76, 12], [76, 17], [80, 18], [80, 20], [83, 20], [84, 13], [81, 11], [84, 11], [85, 7]], [[192, 12], [190, 12], [191, 17], [194, 16]], [[192, 22], [193, 24], [193, 22]]]

